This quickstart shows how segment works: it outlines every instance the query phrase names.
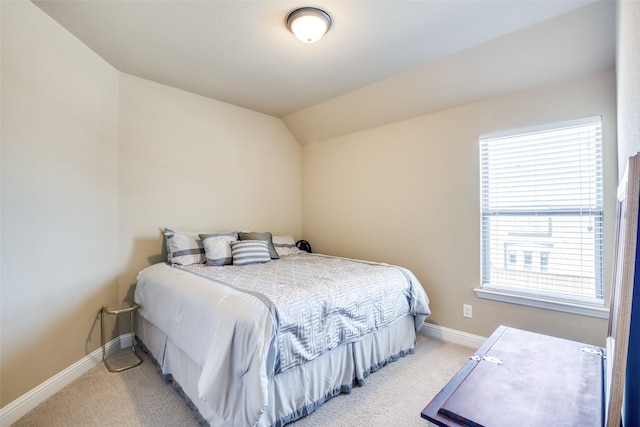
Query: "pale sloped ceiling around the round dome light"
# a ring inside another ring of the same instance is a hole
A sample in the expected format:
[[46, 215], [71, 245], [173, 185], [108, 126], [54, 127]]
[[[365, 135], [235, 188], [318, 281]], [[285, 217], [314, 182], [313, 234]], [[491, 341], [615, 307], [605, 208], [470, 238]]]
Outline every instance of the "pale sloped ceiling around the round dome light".
[[[33, 1], [116, 69], [283, 118], [302, 144], [612, 69], [612, 0]], [[333, 18], [305, 44], [287, 14]]]

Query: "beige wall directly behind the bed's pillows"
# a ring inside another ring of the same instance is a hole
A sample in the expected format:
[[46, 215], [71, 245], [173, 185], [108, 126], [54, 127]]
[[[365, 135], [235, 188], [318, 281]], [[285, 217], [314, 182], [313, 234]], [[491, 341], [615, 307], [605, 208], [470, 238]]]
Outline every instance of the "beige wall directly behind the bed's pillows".
[[122, 74], [119, 139], [122, 299], [162, 227], [300, 236], [302, 151], [281, 120]]

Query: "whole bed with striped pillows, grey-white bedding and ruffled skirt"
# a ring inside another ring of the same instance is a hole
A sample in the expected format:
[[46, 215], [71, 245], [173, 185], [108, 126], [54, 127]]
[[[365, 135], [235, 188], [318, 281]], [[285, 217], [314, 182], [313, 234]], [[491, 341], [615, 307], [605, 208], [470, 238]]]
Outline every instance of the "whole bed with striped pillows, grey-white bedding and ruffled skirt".
[[[197, 247], [179, 251], [171, 233], [168, 262], [138, 275], [137, 339], [211, 426], [313, 412], [412, 353], [430, 314], [402, 267], [302, 252], [269, 233], [194, 233]], [[252, 244], [262, 261], [243, 263], [236, 246]]]

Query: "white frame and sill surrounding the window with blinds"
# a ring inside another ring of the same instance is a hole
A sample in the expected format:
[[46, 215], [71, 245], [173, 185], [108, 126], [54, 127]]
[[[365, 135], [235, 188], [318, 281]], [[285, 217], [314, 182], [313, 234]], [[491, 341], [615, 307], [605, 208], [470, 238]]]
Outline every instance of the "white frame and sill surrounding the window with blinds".
[[[513, 288], [507, 285], [500, 285], [500, 284], [495, 284], [495, 283], [491, 283], [489, 280], [487, 280], [488, 278], [488, 274], [489, 274], [489, 257], [487, 256], [487, 251], [489, 251], [489, 245], [490, 245], [490, 238], [485, 239], [485, 219], [487, 218], [487, 211], [488, 209], [485, 209], [486, 206], [488, 206], [488, 201], [485, 199], [486, 194], [484, 189], [482, 188], [483, 184], [484, 184], [484, 178], [482, 176], [482, 174], [484, 173], [484, 160], [483, 160], [483, 155], [482, 155], [482, 147], [483, 147], [483, 141], [484, 140], [490, 140], [490, 139], [495, 139], [495, 138], [504, 138], [504, 137], [517, 137], [519, 135], [524, 135], [524, 134], [528, 134], [528, 133], [539, 133], [539, 132], [552, 132], [554, 130], [557, 129], [561, 129], [561, 128], [566, 128], [566, 127], [571, 127], [571, 126], [577, 126], [577, 125], [581, 125], [581, 124], [587, 124], [587, 123], [593, 123], [595, 121], [599, 121], [600, 122], [600, 141], [599, 141], [599, 147], [598, 147], [598, 152], [596, 154], [597, 156], [597, 161], [599, 162], [598, 167], [600, 168], [600, 170], [602, 170], [604, 168], [604, 159], [603, 159], [603, 152], [604, 152], [604, 143], [603, 143], [603, 137], [602, 137], [602, 117], [601, 116], [596, 116], [596, 117], [590, 117], [590, 118], [586, 118], [586, 119], [580, 119], [580, 120], [572, 120], [572, 121], [567, 121], [567, 122], [559, 122], [559, 123], [551, 123], [551, 124], [546, 124], [543, 126], [538, 126], [535, 128], [527, 128], [527, 129], [517, 129], [517, 130], [512, 130], [512, 131], [508, 131], [508, 132], [502, 132], [500, 134], [491, 134], [491, 135], [483, 135], [479, 138], [479, 153], [480, 153], [480, 199], [481, 199], [481, 205], [480, 205], [480, 219], [481, 219], [481, 282], [480, 282], [480, 287], [474, 289], [476, 295], [480, 298], [485, 298], [485, 299], [491, 299], [491, 300], [497, 300], [497, 301], [503, 301], [503, 302], [509, 302], [509, 303], [516, 303], [516, 304], [523, 304], [523, 305], [528, 305], [528, 306], [535, 306], [535, 307], [540, 307], [540, 308], [546, 308], [546, 309], [552, 309], [552, 310], [559, 310], [559, 311], [564, 311], [564, 312], [570, 312], [570, 313], [575, 313], [575, 314], [582, 314], [582, 315], [587, 315], [587, 316], [593, 316], [593, 317], [599, 317], [599, 318], [607, 318], [608, 317], [608, 310], [604, 308], [605, 305], [605, 295], [604, 295], [604, 272], [603, 272], [603, 268], [604, 268], [604, 251], [603, 251], [603, 244], [604, 244], [604, 197], [603, 197], [603, 192], [604, 192], [604, 176], [602, 176], [601, 178], [601, 182], [599, 187], [597, 187], [597, 191], [600, 192], [600, 206], [599, 209], [593, 209], [591, 211], [589, 211], [589, 214], [592, 214], [594, 217], [594, 222], [596, 222], [596, 227], [597, 229], [600, 230], [600, 234], [599, 237], [595, 239], [595, 242], [599, 242], [598, 244], [594, 244], [594, 263], [595, 263], [595, 287], [596, 287], [596, 292], [599, 292], [599, 294], [602, 296], [602, 298], [574, 298], [570, 295], [562, 295], [562, 294], [558, 294], [558, 293], [549, 293], [549, 292], [544, 292], [544, 291], [540, 291], [540, 290], [536, 290], [535, 292], [528, 292], [528, 291], [522, 291], [520, 289], [517, 288]], [[523, 216], [531, 216], [531, 213], [533, 211], [521, 211], [518, 212], [518, 215], [523, 215]], [[508, 212], [504, 212], [503, 214], [508, 214], [508, 215], [513, 215], [513, 210], [509, 210]], [[583, 214], [584, 211], [583, 210], [548, 210], [546, 211], [546, 213], [549, 215], [549, 235], [551, 234], [551, 218], [555, 215], [576, 215], [576, 214]], [[527, 234], [527, 233], [525, 233]], [[536, 233], [533, 233], [536, 234]], [[505, 259], [507, 258], [507, 253], [505, 252]], [[542, 257], [542, 252], [539, 255], [532, 255], [534, 258], [535, 257]], [[548, 253], [547, 253], [547, 257], [548, 257]], [[520, 256], [518, 255], [517, 258], [520, 258]], [[532, 259], [533, 260], [533, 259]], [[541, 261], [541, 265], [542, 265], [542, 258], [540, 258]], [[548, 259], [547, 259], [548, 262]], [[524, 265], [524, 264], [523, 264]], [[526, 267], [526, 266], [525, 266]], [[529, 265], [529, 269], [530, 269], [530, 265]], [[509, 268], [508, 266], [506, 268]], [[547, 266], [548, 268], [548, 266]], [[545, 273], [543, 271], [541, 271], [542, 273]]]

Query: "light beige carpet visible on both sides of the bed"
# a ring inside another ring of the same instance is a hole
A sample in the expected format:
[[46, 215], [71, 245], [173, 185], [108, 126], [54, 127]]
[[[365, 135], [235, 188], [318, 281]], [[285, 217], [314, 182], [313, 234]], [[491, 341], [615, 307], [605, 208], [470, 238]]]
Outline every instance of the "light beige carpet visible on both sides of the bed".
[[[473, 349], [418, 335], [415, 354], [371, 374], [291, 427], [425, 427], [420, 412], [473, 355]], [[184, 398], [145, 362], [121, 373], [100, 364], [13, 424], [46, 426], [199, 426]]]

